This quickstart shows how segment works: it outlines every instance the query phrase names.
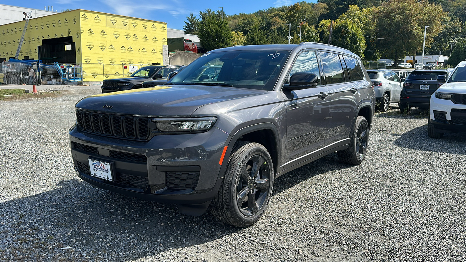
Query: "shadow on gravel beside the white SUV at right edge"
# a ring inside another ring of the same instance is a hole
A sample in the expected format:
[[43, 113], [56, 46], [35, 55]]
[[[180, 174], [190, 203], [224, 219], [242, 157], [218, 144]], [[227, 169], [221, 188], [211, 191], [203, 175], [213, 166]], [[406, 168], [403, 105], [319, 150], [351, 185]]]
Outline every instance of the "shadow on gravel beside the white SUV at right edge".
[[466, 132], [445, 134], [443, 138], [429, 138], [427, 124], [405, 132], [393, 144], [404, 148], [450, 154], [466, 154]]

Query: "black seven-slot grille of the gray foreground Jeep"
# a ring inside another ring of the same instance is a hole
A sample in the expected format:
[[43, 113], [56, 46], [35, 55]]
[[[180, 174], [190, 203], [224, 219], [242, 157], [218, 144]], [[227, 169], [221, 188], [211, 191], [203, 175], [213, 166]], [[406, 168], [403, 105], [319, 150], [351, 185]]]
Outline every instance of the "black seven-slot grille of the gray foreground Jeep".
[[109, 137], [147, 140], [148, 117], [128, 117], [76, 110], [76, 122], [82, 131]]

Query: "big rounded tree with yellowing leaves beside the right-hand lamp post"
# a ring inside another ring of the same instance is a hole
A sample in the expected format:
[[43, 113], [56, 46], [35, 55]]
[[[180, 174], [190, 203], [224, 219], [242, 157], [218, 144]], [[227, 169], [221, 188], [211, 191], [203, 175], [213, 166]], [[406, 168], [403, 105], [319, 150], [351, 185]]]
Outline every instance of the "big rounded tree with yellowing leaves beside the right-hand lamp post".
[[441, 23], [446, 15], [442, 7], [428, 1], [389, 0], [373, 9], [375, 44], [382, 53], [395, 60], [395, 65], [405, 55], [422, 50], [424, 26], [427, 29], [427, 47], [444, 28]]

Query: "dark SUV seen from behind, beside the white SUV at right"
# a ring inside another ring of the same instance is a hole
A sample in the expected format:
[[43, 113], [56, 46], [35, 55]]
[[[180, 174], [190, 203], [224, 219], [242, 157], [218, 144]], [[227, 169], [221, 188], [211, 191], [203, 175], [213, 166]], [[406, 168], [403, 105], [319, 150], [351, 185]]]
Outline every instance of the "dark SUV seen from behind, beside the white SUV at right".
[[403, 83], [399, 108], [401, 112], [411, 107], [429, 108], [432, 93], [442, 85], [437, 76], [448, 75], [443, 69], [412, 71]]

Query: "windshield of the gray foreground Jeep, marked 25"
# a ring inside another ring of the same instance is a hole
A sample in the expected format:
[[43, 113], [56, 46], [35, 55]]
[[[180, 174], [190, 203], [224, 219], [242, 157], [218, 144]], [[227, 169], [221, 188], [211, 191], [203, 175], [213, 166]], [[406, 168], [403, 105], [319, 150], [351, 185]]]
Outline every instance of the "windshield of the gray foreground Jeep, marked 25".
[[170, 83], [273, 90], [290, 53], [274, 50], [206, 53], [181, 70]]

